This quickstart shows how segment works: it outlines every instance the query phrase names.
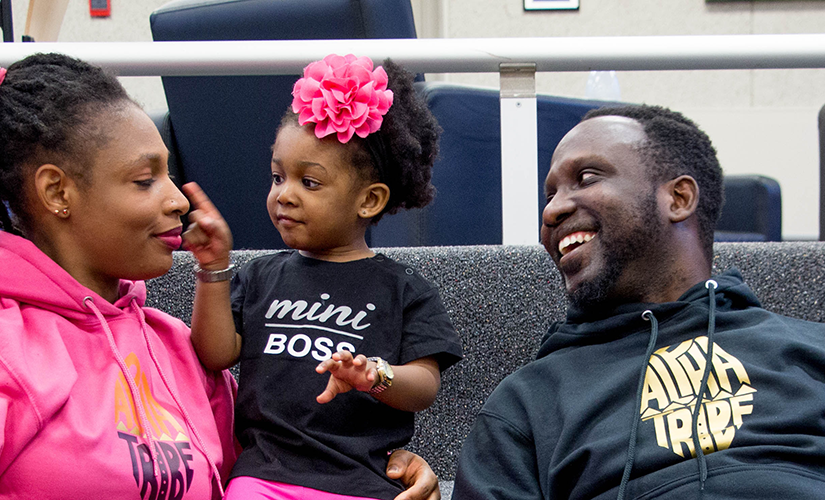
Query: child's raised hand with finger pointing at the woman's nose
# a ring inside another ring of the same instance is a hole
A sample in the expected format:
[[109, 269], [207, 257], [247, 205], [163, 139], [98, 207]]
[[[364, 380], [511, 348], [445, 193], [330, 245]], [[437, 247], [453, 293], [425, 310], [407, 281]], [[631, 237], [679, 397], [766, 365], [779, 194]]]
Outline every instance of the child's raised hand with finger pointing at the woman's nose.
[[192, 205], [189, 228], [183, 234], [183, 247], [192, 252], [204, 269], [227, 268], [229, 251], [232, 250], [229, 225], [197, 183], [185, 184], [183, 192]]

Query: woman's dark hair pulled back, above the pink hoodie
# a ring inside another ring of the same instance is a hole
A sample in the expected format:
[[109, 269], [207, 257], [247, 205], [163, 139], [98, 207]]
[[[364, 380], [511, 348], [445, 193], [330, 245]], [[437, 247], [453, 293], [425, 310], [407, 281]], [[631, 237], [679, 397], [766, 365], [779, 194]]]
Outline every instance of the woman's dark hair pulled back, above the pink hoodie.
[[[134, 104], [114, 75], [62, 54], [35, 54], [0, 83], [0, 223], [30, 227], [25, 184], [40, 165], [88, 185], [88, 158], [107, 139], [104, 110]], [[9, 213], [9, 209], [11, 213]]]

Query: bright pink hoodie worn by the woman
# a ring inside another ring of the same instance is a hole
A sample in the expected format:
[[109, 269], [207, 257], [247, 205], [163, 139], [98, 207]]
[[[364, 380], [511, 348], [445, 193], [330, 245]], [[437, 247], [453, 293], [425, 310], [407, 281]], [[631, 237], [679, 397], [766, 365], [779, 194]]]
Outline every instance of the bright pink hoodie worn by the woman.
[[234, 381], [145, 299], [121, 281], [110, 304], [0, 232], [0, 499], [221, 497]]

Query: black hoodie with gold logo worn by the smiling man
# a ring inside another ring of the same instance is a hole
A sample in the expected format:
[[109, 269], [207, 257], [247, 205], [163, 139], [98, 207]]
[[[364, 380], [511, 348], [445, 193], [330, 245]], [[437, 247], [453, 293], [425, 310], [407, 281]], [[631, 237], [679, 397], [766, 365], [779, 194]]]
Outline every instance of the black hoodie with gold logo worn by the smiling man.
[[711, 281], [553, 325], [481, 410], [453, 499], [825, 498], [825, 325]]

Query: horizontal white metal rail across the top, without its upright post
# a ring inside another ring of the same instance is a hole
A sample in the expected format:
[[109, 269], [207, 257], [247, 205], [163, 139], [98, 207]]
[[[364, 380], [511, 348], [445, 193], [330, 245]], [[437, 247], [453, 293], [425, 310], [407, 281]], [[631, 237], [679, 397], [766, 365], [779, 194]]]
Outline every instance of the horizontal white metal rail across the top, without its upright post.
[[555, 38], [419, 38], [236, 42], [14, 43], [0, 65], [57, 51], [123, 76], [295, 74], [335, 52], [392, 56], [421, 73], [498, 72], [500, 63], [536, 71], [768, 69], [825, 67], [825, 35], [719, 35]]

